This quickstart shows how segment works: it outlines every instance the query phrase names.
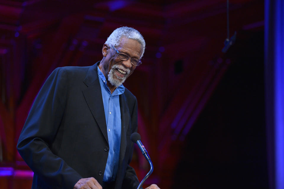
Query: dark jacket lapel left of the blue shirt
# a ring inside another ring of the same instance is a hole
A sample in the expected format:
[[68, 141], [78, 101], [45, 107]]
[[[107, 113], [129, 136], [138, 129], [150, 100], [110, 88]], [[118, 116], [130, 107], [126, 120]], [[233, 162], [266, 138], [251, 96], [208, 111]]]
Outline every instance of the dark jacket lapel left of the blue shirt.
[[91, 66], [84, 79], [84, 83], [88, 86], [83, 90], [85, 100], [91, 110], [93, 117], [96, 119], [106, 142], [109, 143], [106, 131], [106, 117], [104, 114], [104, 103], [101, 96], [101, 86], [98, 80], [97, 65], [99, 62]]

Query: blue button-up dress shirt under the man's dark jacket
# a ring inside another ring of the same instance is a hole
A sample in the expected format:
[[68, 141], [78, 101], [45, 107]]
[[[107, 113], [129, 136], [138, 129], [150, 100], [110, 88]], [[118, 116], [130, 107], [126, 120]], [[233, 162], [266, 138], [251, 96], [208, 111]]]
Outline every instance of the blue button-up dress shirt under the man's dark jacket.
[[114, 181], [118, 170], [120, 138], [121, 138], [121, 117], [119, 95], [124, 93], [124, 86], [120, 85], [113, 93], [110, 93], [106, 85], [106, 78], [101, 70], [98, 69], [99, 83], [101, 85], [101, 94], [104, 102], [104, 113], [106, 116], [107, 138], [109, 140], [109, 155], [106, 161], [104, 172], [104, 182]]

